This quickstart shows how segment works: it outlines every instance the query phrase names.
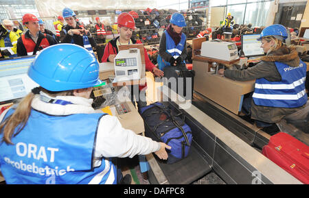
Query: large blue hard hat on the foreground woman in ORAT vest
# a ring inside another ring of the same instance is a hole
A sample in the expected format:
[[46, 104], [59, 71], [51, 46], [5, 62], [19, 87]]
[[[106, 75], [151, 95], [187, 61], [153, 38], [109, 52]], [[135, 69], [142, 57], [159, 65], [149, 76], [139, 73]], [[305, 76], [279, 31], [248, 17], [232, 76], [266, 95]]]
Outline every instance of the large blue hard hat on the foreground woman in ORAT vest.
[[92, 53], [67, 43], [43, 49], [30, 64], [28, 76], [50, 91], [89, 88], [102, 83], [98, 60]]

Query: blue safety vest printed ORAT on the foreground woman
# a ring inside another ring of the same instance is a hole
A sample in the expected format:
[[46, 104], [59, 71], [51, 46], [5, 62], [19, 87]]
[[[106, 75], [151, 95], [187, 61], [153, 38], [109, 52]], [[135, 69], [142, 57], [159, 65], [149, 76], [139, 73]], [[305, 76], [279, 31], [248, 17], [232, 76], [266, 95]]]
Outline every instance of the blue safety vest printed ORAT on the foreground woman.
[[[5, 118], [13, 112], [10, 109]], [[0, 167], [5, 182], [116, 184], [117, 170], [111, 160], [102, 158], [101, 164], [93, 164], [98, 122], [102, 116], [104, 114], [52, 116], [32, 109], [25, 127], [13, 136], [13, 145], [0, 143]]]

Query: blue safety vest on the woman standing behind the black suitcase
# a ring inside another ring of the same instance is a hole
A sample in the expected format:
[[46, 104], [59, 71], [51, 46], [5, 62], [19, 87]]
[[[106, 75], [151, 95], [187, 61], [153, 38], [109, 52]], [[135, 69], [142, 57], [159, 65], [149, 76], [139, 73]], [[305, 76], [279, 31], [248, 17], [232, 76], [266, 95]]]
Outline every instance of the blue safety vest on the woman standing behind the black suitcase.
[[[175, 42], [170, 36], [170, 34], [168, 34], [166, 30], [164, 32], [165, 32], [165, 38], [166, 38], [166, 52], [172, 55], [174, 59], [176, 59], [179, 57], [179, 55], [181, 55], [181, 53], [183, 53], [183, 48], [185, 47], [186, 36], [185, 34], [182, 33], [181, 42], [179, 42], [178, 45], [175, 45]], [[165, 66], [170, 66], [170, 62], [166, 62], [165, 60], [163, 60], [160, 55], [158, 55], [157, 62], [159, 65], [159, 69], [161, 70], [163, 70]], [[185, 63], [185, 61], [183, 62]]]

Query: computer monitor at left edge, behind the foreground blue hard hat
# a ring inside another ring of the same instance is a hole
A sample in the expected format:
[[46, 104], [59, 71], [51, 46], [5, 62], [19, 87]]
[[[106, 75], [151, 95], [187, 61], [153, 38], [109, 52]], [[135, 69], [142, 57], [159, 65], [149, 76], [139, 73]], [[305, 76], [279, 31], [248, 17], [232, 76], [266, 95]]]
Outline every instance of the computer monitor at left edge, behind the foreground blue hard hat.
[[35, 56], [25, 56], [0, 61], [0, 105], [14, 102], [38, 86], [27, 75]]

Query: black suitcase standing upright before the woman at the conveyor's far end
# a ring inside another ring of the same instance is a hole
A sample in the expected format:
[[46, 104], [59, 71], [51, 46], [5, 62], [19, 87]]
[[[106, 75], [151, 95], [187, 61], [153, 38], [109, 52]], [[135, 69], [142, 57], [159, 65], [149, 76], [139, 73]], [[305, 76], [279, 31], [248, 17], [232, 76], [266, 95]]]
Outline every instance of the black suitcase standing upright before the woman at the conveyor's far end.
[[[181, 95], [181, 97], [184, 97], [185, 99], [190, 100], [193, 98], [195, 75], [193, 70], [188, 70], [185, 64], [182, 63], [177, 66], [166, 66], [163, 71], [165, 77], [163, 79], [164, 85], [168, 86], [168, 88]], [[176, 82], [176, 85], [174, 82]]]

